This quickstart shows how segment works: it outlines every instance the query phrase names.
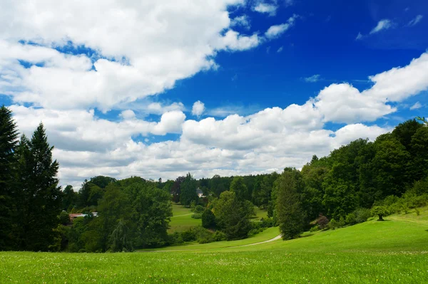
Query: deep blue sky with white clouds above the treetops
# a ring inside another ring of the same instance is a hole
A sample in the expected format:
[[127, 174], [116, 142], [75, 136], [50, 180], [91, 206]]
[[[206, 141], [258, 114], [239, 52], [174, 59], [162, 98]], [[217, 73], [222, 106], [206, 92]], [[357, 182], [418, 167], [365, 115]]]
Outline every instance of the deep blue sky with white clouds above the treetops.
[[425, 0], [0, 2], [0, 105], [76, 190], [299, 169], [427, 116]]

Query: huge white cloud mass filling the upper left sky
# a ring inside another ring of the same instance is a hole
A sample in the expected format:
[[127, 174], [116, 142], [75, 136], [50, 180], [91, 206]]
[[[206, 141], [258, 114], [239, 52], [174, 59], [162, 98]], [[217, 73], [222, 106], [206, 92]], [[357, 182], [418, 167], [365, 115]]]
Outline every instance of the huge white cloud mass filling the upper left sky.
[[[261, 43], [257, 34], [230, 30], [228, 6], [242, 2], [6, 0], [0, 11], [0, 92], [41, 107], [104, 111], [162, 93], [177, 80], [216, 68], [217, 51]], [[94, 62], [54, 49], [69, 42], [96, 51]], [[24, 68], [19, 60], [41, 64]]]

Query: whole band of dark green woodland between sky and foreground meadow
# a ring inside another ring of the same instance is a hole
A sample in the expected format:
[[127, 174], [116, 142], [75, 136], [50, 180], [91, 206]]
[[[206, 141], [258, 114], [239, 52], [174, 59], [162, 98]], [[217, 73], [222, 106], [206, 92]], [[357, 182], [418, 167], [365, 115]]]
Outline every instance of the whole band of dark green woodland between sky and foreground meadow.
[[[61, 189], [44, 126], [31, 139], [19, 136], [11, 111], [1, 107], [0, 250], [133, 251], [246, 238], [269, 226], [289, 239], [382, 219], [427, 204], [427, 145], [427, 121], [408, 120], [374, 142], [355, 140], [282, 174], [197, 180], [189, 173], [165, 182], [98, 176]], [[203, 226], [168, 234], [172, 202], [190, 206]], [[254, 206], [269, 218], [250, 221]], [[88, 215], [71, 223], [71, 213]]]

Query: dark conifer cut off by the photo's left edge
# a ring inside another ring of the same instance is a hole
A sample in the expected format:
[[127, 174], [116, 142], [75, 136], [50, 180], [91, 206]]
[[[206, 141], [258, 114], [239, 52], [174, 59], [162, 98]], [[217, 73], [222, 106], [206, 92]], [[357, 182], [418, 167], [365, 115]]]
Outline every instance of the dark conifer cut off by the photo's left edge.
[[[0, 251], [16, 248], [14, 222], [16, 216], [16, 146], [18, 130], [12, 112], [0, 107]], [[16, 196], [18, 197], [18, 196]]]

